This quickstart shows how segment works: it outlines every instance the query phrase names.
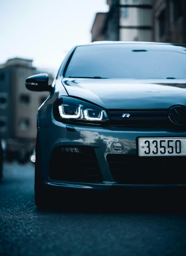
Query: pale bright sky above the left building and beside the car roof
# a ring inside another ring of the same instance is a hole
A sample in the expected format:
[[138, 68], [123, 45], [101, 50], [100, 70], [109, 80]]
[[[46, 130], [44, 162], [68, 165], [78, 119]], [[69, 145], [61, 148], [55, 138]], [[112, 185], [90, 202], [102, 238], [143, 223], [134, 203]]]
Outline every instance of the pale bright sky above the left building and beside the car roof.
[[0, 0], [0, 64], [29, 58], [55, 73], [74, 45], [91, 42], [95, 14], [106, 11], [106, 0]]

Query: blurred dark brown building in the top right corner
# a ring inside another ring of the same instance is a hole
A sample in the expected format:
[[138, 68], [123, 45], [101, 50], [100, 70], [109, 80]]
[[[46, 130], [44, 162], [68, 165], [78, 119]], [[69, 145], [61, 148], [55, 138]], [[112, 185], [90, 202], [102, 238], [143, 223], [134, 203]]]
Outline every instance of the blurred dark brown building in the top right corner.
[[186, 1], [153, 0], [153, 41], [186, 43]]

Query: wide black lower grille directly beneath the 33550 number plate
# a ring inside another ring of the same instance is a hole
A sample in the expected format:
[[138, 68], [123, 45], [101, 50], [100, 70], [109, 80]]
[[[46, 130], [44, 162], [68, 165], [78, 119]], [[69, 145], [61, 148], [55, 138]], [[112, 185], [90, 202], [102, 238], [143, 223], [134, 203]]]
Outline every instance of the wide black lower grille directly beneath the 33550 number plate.
[[108, 154], [114, 180], [120, 184], [186, 185], [186, 157], [139, 157]]

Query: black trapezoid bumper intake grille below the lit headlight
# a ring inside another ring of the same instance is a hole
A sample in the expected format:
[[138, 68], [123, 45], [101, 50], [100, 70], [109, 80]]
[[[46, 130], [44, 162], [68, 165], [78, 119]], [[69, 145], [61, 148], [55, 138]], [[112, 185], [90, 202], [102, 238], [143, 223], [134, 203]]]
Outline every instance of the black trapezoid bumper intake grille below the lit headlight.
[[102, 182], [94, 148], [78, 147], [78, 149], [79, 153], [64, 152], [62, 147], [55, 148], [51, 154], [48, 177], [61, 181]]

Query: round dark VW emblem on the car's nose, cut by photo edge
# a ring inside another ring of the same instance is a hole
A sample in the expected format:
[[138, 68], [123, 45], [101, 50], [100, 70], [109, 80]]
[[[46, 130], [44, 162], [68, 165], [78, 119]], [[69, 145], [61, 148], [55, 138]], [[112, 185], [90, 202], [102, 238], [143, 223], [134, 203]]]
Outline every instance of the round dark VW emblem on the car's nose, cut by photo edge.
[[168, 116], [173, 124], [185, 125], [186, 124], [186, 107], [174, 106], [169, 109]]

